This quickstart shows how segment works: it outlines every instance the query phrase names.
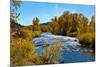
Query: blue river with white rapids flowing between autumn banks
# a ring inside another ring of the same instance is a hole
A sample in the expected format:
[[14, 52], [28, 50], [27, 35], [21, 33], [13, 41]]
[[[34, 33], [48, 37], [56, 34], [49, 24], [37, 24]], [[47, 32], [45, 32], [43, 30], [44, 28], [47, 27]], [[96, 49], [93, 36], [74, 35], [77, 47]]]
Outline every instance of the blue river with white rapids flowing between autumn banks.
[[36, 51], [41, 55], [44, 51], [44, 46], [54, 45], [54, 43], [61, 41], [61, 54], [58, 63], [74, 63], [74, 62], [90, 62], [95, 61], [95, 57], [91, 55], [88, 49], [80, 48], [79, 40], [77, 38], [68, 36], [53, 35], [49, 32], [44, 32], [41, 37], [34, 38]]

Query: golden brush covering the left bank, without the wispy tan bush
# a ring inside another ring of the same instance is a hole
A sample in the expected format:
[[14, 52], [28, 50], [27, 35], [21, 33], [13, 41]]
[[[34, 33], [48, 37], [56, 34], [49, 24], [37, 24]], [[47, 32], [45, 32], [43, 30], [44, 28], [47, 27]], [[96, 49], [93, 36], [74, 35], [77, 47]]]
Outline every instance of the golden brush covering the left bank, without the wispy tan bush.
[[11, 65], [19, 66], [34, 64], [37, 56], [32, 39], [37, 36], [40, 36], [38, 31], [32, 32], [25, 29], [11, 33]]

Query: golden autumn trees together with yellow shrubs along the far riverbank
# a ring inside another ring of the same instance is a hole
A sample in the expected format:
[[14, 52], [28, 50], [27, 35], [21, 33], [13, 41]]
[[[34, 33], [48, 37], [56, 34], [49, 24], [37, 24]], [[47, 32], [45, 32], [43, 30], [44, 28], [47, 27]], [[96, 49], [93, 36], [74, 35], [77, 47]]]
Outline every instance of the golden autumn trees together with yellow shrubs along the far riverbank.
[[95, 48], [95, 16], [89, 21], [83, 14], [65, 11], [61, 16], [52, 18], [47, 25], [41, 25], [39, 22], [38, 17], [33, 19], [33, 31], [77, 37], [83, 46]]

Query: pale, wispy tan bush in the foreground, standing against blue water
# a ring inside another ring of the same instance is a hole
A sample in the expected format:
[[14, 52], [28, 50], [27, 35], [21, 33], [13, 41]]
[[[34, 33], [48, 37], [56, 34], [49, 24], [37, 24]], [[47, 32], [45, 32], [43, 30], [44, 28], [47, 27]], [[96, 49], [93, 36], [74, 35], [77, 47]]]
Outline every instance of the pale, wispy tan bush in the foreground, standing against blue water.
[[54, 64], [61, 53], [61, 42], [57, 41], [53, 46], [48, 45], [45, 47], [45, 51], [42, 56], [39, 56], [40, 60], [38, 63], [42, 64]]

